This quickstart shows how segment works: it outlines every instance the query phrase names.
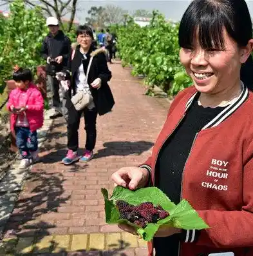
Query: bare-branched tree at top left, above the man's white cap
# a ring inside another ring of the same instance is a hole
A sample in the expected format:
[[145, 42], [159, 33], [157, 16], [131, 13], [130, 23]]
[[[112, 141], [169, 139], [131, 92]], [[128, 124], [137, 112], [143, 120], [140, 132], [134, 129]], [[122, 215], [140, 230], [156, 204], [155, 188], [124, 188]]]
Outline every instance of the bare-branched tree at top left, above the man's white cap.
[[[70, 22], [67, 28], [67, 31], [70, 32], [75, 19], [77, 1], [78, 0], [24, 0], [24, 3], [32, 8], [39, 5], [44, 14], [57, 17], [62, 28], [62, 17], [64, 17], [66, 14], [70, 14]], [[2, 2], [8, 4], [12, 3], [13, 0], [2, 0]]]

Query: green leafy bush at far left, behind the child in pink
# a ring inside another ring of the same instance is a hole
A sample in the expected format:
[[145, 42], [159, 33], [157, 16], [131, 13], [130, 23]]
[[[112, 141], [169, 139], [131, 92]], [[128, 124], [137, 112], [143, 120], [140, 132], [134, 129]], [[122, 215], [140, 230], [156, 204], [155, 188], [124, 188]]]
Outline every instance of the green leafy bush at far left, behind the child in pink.
[[0, 16], [0, 93], [15, 64], [35, 72], [44, 63], [40, 50], [47, 34], [45, 24], [41, 8], [27, 9], [22, 0], [10, 4], [10, 17]]

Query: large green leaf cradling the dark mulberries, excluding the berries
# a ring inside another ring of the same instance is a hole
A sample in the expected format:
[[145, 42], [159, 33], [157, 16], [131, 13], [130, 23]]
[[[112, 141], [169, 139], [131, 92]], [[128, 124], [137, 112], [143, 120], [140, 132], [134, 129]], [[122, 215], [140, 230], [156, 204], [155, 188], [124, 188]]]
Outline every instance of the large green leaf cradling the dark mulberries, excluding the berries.
[[[160, 226], [172, 226], [175, 228], [182, 228], [185, 230], [202, 230], [209, 228], [209, 226], [201, 219], [198, 213], [192, 206], [183, 199], [179, 204], [171, 202], [167, 195], [156, 187], [140, 188], [136, 191], [122, 188], [121, 186], [115, 187], [113, 195], [109, 198], [108, 191], [104, 188], [101, 190], [106, 211], [106, 222], [109, 224], [127, 223], [136, 228], [136, 231], [145, 241], [153, 239], [156, 231]], [[149, 223], [143, 229], [127, 220], [120, 219], [120, 214], [115, 204], [118, 200], [123, 200], [129, 204], [139, 205], [142, 202], [153, 202], [154, 205], [160, 205], [164, 210], [170, 213], [169, 217], [158, 221], [156, 224]]]

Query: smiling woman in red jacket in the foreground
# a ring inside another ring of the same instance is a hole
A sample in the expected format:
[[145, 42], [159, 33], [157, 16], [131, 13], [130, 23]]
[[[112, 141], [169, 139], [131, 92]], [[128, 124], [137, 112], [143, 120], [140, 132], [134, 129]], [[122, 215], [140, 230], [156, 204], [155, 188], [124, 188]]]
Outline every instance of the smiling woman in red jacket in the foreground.
[[191, 1], [178, 37], [193, 85], [175, 97], [152, 155], [113, 181], [130, 190], [151, 182], [176, 204], [189, 201], [210, 227], [162, 226], [149, 255], [252, 256], [253, 93], [240, 81], [253, 47], [247, 3]]

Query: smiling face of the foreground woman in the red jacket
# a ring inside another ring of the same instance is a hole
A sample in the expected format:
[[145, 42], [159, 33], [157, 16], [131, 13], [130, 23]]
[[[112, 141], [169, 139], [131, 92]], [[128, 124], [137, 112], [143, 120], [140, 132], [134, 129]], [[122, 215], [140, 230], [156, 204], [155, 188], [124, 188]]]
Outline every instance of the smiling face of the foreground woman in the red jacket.
[[199, 92], [216, 94], [239, 81], [241, 63], [247, 57], [225, 30], [223, 39], [224, 50], [204, 50], [197, 40], [193, 49], [180, 50], [180, 61]]

